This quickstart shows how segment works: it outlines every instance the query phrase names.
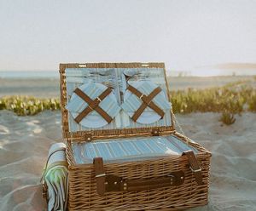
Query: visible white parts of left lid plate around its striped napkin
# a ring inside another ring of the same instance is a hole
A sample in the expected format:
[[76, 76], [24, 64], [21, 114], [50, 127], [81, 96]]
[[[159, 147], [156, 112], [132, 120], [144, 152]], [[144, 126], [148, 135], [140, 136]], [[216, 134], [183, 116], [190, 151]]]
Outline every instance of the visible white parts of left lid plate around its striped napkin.
[[[90, 85], [90, 83], [85, 83], [82, 86], [80, 86], [79, 88], [84, 91], [85, 88], [87, 88]], [[102, 92], [108, 88], [107, 86], [103, 85], [102, 83], [95, 83], [96, 87], [99, 88], [100, 90], [102, 90]], [[74, 98], [77, 97], [77, 94], [72, 94], [71, 96], [71, 100], [73, 100]], [[112, 93], [110, 93], [108, 95], [108, 97], [112, 98], [116, 103], [116, 98]], [[82, 100], [82, 99], [81, 99]], [[102, 108], [104, 110], [104, 108]], [[71, 114], [73, 116], [73, 118], [77, 117], [79, 115], [79, 112], [73, 112], [71, 111]], [[103, 126], [107, 125], [108, 122], [100, 115], [91, 115], [91, 112], [82, 119], [82, 121], [79, 123], [82, 126], [84, 126], [85, 128], [102, 128]]]

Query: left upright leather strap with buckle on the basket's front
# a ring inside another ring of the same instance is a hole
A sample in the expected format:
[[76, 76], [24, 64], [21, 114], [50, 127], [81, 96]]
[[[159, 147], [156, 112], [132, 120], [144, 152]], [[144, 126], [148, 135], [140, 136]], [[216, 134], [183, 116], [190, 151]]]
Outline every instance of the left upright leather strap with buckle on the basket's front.
[[105, 193], [105, 180], [106, 180], [106, 174], [104, 171], [102, 157], [95, 157], [93, 159], [93, 164], [94, 164], [95, 174], [96, 174], [96, 191], [100, 196], [102, 196]]

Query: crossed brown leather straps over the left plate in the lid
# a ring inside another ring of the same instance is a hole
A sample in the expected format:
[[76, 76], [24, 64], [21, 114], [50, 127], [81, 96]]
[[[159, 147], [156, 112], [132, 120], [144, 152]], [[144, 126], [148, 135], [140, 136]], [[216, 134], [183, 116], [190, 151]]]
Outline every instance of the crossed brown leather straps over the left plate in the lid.
[[80, 98], [82, 98], [88, 106], [84, 108], [84, 110], [79, 113], [78, 117], [76, 117], [74, 120], [77, 123], [80, 123], [84, 117], [86, 117], [90, 111], [97, 111], [108, 123], [111, 123], [113, 118], [108, 115], [108, 113], [99, 106], [102, 100], [104, 100], [108, 94], [111, 93], [111, 88], [107, 88], [102, 94], [100, 94], [95, 100], [91, 100], [90, 97], [85, 94], [81, 89], [76, 88], [74, 90], [74, 93], [79, 95]]

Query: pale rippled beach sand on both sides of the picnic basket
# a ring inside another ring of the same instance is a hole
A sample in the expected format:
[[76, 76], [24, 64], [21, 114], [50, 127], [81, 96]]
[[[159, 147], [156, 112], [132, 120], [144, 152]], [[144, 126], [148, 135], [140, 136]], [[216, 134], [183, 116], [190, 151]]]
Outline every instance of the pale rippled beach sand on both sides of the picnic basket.
[[[191, 210], [256, 208], [256, 114], [223, 126], [218, 113], [178, 115], [185, 134], [212, 151], [209, 204]], [[17, 117], [0, 111], [0, 210], [41, 211], [39, 184], [49, 145], [61, 141], [61, 113]]]

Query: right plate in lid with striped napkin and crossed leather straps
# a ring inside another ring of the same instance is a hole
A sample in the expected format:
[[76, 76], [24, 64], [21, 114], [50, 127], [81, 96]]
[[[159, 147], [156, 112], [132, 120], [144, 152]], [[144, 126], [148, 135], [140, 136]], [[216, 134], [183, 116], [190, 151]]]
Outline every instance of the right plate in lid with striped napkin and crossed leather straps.
[[150, 80], [143, 80], [129, 83], [121, 107], [136, 123], [152, 124], [160, 120], [165, 124], [169, 121], [166, 113], [171, 103], [164, 90]]

